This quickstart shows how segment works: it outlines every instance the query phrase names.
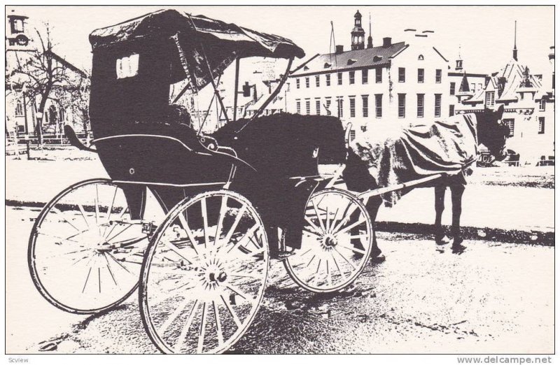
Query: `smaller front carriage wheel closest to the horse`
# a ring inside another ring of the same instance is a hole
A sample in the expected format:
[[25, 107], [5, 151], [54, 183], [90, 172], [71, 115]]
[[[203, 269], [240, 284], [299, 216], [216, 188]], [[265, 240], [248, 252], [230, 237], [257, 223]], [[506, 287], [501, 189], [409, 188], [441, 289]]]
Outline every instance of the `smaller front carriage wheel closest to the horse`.
[[335, 292], [365, 268], [373, 243], [370, 215], [349, 192], [312, 194], [305, 209], [302, 247], [284, 260], [288, 275], [311, 292]]

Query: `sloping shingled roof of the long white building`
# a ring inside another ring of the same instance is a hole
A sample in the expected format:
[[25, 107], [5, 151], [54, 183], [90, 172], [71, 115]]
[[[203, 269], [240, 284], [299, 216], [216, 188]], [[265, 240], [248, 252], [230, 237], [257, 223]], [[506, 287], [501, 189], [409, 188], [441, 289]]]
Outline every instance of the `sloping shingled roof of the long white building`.
[[349, 69], [365, 69], [375, 66], [386, 66], [390, 60], [405, 50], [405, 42], [393, 43], [387, 47], [379, 46], [364, 50], [349, 50], [339, 53], [316, 55], [306, 64], [297, 69], [290, 77], [298, 77], [314, 73], [329, 73]]

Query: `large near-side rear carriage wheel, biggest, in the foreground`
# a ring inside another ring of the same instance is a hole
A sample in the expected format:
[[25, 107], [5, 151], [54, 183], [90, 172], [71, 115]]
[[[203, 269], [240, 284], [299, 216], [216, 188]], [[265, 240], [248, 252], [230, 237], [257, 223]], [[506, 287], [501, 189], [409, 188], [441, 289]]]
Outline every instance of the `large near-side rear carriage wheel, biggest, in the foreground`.
[[166, 353], [228, 350], [253, 321], [268, 272], [260, 216], [221, 190], [181, 201], [151, 240], [139, 302], [144, 327]]

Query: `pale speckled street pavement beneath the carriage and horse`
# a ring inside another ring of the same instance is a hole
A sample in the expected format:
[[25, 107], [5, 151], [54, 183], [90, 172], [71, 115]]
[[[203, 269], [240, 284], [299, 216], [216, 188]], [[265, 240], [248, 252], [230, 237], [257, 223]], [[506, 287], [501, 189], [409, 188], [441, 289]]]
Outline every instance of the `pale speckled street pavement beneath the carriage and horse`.
[[[50, 306], [27, 269], [34, 208], [8, 208], [6, 352], [156, 352], [137, 294], [97, 316]], [[387, 261], [340, 294], [311, 294], [272, 263], [265, 301], [235, 352], [554, 352], [554, 248], [386, 234]], [[531, 334], [531, 336], [527, 336]]]

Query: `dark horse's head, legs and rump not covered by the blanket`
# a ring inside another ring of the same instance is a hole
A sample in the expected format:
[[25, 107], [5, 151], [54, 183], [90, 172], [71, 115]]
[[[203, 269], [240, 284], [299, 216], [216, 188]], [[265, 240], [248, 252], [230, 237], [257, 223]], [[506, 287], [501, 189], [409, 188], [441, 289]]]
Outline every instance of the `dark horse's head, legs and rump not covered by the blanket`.
[[[485, 109], [482, 113], [476, 114], [477, 120], [477, 137], [479, 145], [484, 145], [488, 148], [491, 155], [496, 159], [503, 158], [503, 150], [505, 146], [505, 137], [507, 136], [507, 127], [501, 123], [503, 115], [503, 106], [497, 110]], [[348, 159], [346, 161], [346, 168], [344, 169], [343, 178], [348, 189], [356, 192], [365, 192], [370, 189], [379, 187], [375, 179], [368, 171], [367, 162], [358, 157], [352, 150], [348, 152]], [[444, 229], [442, 228], [442, 213], [444, 210], [444, 196], [447, 188], [451, 191], [452, 202], [452, 223], [451, 223], [451, 236], [453, 239], [454, 249], [462, 248], [461, 242], [461, 200], [463, 192], [465, 191], [465, 174], [458, 173], [457, 175], [443, 176], [434, 182], [427, 185], [418, 185], [417, 187], [434, 187], [435, 188], [435, 241], [438, 244], [447, 243], [444, 241]], [[381, 206], [381, 197], [375, 196], [367, 202], [367, 211], [370, 213], [372, 222], [375, 222], [377, 211]], [[374, 240], [374, 248], [372, 250], [372, 257], [375, 259], [381, 257], [381, 250], [377, 248], [377, 241]]]

